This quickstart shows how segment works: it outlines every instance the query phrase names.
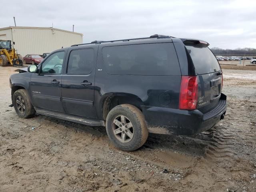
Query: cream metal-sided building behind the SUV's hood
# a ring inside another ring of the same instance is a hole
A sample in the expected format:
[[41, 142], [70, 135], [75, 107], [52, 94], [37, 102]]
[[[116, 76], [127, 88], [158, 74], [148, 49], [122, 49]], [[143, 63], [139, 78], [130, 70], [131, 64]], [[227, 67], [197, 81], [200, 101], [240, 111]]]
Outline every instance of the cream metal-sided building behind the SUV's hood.
[[18, 54], [49, 53], [56, 49], [83, 42], [83, 34], [51, 27], [0, 28], [0, 40], [12, 40]]

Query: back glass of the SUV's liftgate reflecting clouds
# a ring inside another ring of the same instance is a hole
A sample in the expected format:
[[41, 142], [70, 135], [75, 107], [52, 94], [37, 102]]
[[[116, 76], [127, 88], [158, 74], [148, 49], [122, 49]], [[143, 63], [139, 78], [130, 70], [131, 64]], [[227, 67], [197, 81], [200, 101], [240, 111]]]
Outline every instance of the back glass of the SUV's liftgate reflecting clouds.
[[220, 70], [218, 60], [206, 46], [186, 45], [197, 74], [212, 73]]

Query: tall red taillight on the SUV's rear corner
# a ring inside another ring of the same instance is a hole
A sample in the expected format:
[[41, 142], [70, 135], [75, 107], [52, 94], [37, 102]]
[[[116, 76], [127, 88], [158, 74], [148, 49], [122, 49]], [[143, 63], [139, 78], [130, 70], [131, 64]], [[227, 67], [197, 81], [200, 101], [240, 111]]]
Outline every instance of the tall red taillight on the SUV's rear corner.
[[197, 105], [197, 76], [182, 76], [180, 84], [180, 104], [183, 110], [194, 110]]

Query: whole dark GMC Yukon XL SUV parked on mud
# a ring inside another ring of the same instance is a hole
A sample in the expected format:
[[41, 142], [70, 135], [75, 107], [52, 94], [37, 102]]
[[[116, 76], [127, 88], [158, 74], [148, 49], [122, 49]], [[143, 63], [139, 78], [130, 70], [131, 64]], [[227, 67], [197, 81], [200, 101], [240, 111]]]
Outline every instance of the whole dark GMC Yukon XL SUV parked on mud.
[[153, 35], [62, 48], [10, 76], [12, 104], [21, 118], [37, 112], [106, 126], [127, 151], [148, 132], [196, 134], [226, 113], [222, 70], [208, 45]]

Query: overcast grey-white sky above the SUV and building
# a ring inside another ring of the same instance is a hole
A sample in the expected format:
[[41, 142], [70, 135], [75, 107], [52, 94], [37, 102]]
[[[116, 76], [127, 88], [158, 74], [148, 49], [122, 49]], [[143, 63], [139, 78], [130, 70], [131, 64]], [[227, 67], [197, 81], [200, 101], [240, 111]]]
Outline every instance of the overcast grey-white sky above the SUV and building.
[[0, 28], [51, 27], [84, 34], [84, 42], [164, 34], [219, 48], [256, 48], [255, 0], [12, 0]]

